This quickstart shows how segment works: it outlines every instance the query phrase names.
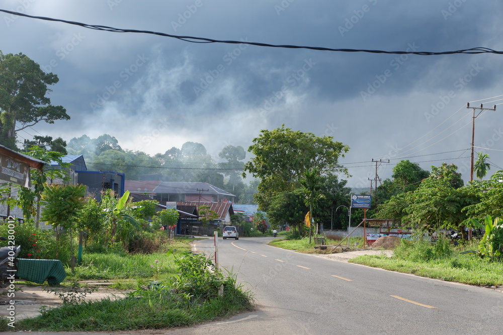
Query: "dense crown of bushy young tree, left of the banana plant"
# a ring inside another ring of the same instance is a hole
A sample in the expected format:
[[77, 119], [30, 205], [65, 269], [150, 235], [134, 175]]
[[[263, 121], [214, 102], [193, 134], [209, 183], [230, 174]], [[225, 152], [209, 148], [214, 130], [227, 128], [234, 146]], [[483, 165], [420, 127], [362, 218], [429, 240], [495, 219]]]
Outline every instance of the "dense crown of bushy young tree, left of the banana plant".
[[46, 225], [52, 225], [56, 240], [63, 230], [74, 228], [74, 221], [78, 211], [83, 207], [85, 185], [52, 184], [45, 187], [42, 192], [42, 220]]

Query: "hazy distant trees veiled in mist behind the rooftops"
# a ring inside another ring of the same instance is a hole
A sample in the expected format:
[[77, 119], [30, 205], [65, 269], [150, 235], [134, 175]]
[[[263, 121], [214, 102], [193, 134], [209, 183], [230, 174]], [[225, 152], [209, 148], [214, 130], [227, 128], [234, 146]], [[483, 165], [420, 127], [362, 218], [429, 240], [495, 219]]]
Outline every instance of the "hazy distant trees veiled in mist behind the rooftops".
[[83, 155], [90, 170], [117, 171], [127, 180], [150, 175], [150, 180], [207, 182], [236, 195], [236, 202], [246, 186], [241, 178], [246, 152], [241, 146], [226, 146], [215, 162], [201, 143], [186, 142], [164, 153], [150, 156], [142, 151], [123, 149], [117, 139], [104, 134], [96, 139], [87, 135], [73, 138], [66, 150], [69, 155]]

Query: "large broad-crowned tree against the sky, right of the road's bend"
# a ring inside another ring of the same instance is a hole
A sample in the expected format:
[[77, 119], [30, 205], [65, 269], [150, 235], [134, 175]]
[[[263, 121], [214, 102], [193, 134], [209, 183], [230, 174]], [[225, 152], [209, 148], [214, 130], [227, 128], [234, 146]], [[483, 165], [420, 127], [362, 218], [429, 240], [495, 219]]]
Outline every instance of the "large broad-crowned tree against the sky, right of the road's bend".
[[255, 157], [244, 164], [242, 175], [246, 177], [247, 172], [260, 179], [256, 200], [265, 211], [272, 196], [300, 187], [300, 179], [309, 168], [317, 168], [320, 174], [347, 174], [347, 169], [339, 165], [338, 159], [344, 157], [349, 147], [333, 142], [332, 137], [316, 137], [282, 125], [273, 131], [262, 130], [253, 143], [248, 151]]

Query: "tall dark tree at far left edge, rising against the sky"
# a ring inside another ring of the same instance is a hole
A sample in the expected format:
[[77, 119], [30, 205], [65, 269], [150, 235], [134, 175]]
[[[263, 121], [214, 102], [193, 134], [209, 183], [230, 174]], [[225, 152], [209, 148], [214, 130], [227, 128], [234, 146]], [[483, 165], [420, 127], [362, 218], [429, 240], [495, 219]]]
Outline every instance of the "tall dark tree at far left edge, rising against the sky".
[[0, 143], [17, 150], [17, 132], [41, 121], [70, 120], [66, 109], [51, 105], [46, 96], [47, 86], [58, 81], [57, 75], [45, 73], [26, 55], [0, 51]]

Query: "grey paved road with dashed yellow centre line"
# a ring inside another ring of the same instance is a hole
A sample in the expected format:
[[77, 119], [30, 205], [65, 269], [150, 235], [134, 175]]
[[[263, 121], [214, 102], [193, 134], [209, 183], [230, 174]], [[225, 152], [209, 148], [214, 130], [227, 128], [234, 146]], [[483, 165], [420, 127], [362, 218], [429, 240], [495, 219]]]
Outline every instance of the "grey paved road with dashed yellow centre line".
[[[496, 334], [503, 295], [268, 246], [219, 240], [219, 263], [256, 293], [258, 310], [177, 334]], [[196, 244], [213, 254], [213, 240]]]

